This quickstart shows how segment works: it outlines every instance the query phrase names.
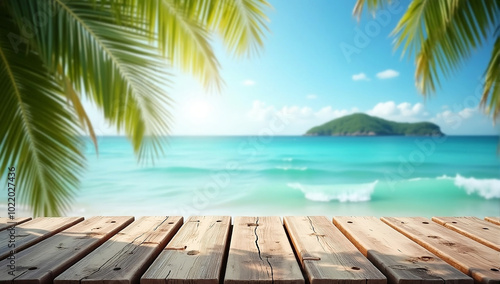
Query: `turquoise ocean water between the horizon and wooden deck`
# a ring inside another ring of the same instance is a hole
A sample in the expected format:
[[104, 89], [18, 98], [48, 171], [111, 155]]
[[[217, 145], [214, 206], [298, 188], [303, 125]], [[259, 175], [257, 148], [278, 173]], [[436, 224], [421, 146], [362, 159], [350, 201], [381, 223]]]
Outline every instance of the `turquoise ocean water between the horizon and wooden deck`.
[[124, 137], [86, 145], [68, 215], [500, 215], [498, 137]]

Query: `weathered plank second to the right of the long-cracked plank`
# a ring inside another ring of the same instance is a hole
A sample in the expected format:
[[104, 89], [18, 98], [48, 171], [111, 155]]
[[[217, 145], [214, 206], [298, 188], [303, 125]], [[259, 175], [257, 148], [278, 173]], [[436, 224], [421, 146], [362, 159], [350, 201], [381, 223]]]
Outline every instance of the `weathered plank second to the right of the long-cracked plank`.
[[474, 282], [375, 217], [334, 217], [333, 223], [391, 284]]

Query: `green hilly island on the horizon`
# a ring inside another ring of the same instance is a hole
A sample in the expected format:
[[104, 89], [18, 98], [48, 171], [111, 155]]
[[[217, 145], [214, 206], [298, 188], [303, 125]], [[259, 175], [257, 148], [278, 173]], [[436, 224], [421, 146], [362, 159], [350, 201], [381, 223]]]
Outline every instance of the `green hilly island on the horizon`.
[[443, 136], [430, 122], [405, 123], [355, 113], [309, 129], [307, 136]]

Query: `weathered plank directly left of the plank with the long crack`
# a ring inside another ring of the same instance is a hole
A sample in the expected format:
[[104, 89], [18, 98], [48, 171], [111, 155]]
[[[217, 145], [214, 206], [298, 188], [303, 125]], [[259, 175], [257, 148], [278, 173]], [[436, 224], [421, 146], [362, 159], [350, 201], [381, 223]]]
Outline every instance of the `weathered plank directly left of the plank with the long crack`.
[[231, 217], [189, 218], [144, 273], [141, 283], [218, 284], [230, 226]]

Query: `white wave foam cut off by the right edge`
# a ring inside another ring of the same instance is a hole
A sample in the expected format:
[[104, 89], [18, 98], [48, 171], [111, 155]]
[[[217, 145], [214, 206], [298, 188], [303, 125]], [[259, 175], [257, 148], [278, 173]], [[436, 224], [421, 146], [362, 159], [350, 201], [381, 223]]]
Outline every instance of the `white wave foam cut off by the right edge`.
[[457, 174], [454, 183], [465, 189], [467, 194], [477, 193], [486, 199], [500, 198], [500, 179], [466, 178]]

